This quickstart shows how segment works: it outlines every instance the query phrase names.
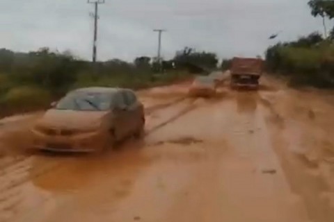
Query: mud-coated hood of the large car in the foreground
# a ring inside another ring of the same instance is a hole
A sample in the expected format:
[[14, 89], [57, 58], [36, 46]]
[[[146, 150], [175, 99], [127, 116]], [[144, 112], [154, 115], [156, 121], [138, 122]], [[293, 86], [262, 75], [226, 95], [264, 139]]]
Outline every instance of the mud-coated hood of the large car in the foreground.
[[48, 110], [38, 121], [38, 126], [74, 129], [97, 128], [106, 114], [108, 114], [106, 111]]

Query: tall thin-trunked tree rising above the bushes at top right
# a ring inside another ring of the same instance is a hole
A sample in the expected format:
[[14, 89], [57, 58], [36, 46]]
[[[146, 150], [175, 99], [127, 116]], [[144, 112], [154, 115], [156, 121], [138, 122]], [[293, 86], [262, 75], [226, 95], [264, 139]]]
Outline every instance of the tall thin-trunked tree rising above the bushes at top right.
[[333, 19], [334, 17], [334, 1], [328, 0], [310, 0], [308, 6], [311, 8], [311, 14], [314, 17], [320, 16], [324, 25], [324, 34], [327, 38], [326, 17]]

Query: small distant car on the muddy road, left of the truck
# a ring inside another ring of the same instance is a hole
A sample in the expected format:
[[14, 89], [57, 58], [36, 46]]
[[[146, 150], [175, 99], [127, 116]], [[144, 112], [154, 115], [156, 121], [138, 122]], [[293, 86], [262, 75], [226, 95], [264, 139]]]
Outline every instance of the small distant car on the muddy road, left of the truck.
[[197, 76], [189, 88], [189, 96], [209, 97], [216, 94], [216, 82], [208, 76]]

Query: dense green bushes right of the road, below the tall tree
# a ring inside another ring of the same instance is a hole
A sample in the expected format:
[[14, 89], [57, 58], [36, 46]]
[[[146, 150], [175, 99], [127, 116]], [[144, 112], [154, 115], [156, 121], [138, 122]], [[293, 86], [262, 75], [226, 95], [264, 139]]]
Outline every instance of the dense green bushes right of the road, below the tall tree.
[[334, 87], [334, 46], [327, 40], [306, 41], [313, 35], [269, 47], [267, 71], [287, 76], [294, 86]]

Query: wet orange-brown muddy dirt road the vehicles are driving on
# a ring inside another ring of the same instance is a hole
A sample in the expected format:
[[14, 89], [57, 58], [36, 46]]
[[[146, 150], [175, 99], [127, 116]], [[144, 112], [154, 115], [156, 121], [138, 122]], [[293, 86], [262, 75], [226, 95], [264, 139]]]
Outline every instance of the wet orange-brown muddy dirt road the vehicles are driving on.
[[334, 99], [265, 80], [186, 99], [141, 92], [147, 135], [104, 155], [24, 152], [0, 130], [0, 221], [334, 221]]

